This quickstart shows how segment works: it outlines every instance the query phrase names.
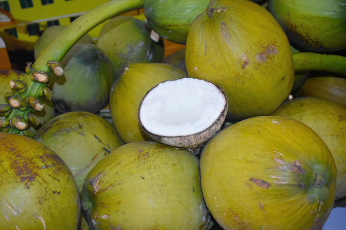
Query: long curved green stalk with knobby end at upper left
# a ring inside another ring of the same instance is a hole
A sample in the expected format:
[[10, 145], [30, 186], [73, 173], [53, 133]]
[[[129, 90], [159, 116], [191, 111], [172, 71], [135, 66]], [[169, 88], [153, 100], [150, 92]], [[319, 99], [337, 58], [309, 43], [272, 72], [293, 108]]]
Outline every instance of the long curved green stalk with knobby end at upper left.
[[[61, 62], [72, 46], [95, 26], [121, 13], [140, 8], [143, 8], [143, 0], [112, 0], [79, 16], [50, 42], [33, 65], [27, 63], [25, 68], [26, 74], [19, 79], [27, 89], [17, 90], [14, 95], [20, 96], [24, 100], [29, 97], [38, 98], [41, 96], [42, 90], [49, 83], [48, 77], [52, 74], [50, 69], [52, 67], [51, 63]], [[13, 108], [11, 114], [6, 119], [10, 120], [16, 117], [23, 120], [23, 122], [27, 122], [27, 115], [33, 109], [32, 106], [21, 110]], [[35, 108], [35, 110], [37, 109]], [[26, 133], [22, 131], [22, 127], [20, 128], [12, 125], [3, 129], [3, 131], [25, 135]]]

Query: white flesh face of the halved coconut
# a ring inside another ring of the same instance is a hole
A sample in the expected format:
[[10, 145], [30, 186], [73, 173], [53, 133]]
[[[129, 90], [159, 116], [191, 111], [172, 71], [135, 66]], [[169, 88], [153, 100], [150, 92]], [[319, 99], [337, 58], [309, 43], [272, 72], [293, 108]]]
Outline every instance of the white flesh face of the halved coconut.
[[140, 108], [145, 128], [161, 136], [186, 136], [203, 131], [220, 115], [225, 100], [213, 84], [194, 78], [160, 83]]

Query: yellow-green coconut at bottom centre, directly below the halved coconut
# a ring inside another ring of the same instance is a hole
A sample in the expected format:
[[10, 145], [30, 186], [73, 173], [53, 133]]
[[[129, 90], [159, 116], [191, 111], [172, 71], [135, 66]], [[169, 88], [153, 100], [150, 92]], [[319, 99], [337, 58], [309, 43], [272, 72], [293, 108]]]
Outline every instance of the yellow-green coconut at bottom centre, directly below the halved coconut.
[[119, 147], [85, 178], [82, 209], [91, 229], [207, 229], [198, 158], [141, 141]]

